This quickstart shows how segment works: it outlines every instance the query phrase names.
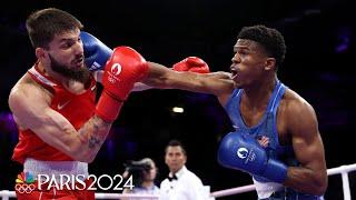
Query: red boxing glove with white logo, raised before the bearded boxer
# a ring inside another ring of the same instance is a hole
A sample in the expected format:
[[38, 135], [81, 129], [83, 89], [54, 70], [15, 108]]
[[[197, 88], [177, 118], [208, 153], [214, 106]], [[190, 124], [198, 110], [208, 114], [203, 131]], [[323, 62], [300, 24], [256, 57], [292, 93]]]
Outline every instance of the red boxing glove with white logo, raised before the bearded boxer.
[[134, 83], [140, 81], [147, 72], [148, 63], [140, 53], [129, 47], [113, 49], [103, 70], [103, 91], [96, 107], [96, 114], [105, 121], [113, 121]]

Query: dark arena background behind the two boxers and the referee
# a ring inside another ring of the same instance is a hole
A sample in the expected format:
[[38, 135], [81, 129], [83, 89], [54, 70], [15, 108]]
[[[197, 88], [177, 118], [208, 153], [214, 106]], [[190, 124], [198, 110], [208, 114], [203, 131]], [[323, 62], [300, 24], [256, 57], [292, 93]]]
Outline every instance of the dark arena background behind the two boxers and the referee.
[[[147, 60], [167, 67], [188, 56], [202, 58], [211, 71], [229, 71], [233, 46], [245, 26], [266, 24], [285, 37], [287, 54], [278, 78], [315, 109], [327, 168], [356, 162], [355, 58], [356, 8], [346, 0], [31, 0], [0, 6], [0, 191], [13, 191], [22, 170], [11, 161], [18, 141], [8, 97], [17, 80], [34, 63], [24, 21], [34, 10], [55, 7], [76, 16], [85, 30], [110, 48], [129, 46]], [[184, 108], [182, 113], [172, 112]], [[80, 108], [86, 109], [86, 108]], [[221, 137], [231, 123], [209, 94], [180, 90], [132, 92], [102, 146], [89, 164], [93, 174], [121, 174], [123, 162], [152, 158], [157, 184], [168, 174], [165, 146], [179, 139], [187, 148], [187, 168], [210, 190], [251, 184], [247, 173], [217, 162]], [[356, 198], [356, 172], [349, 172]], [[329, 177], [325, 199], [343, 199], [340, 174]], [[247, 192], [218, 199], [257, 199]]]

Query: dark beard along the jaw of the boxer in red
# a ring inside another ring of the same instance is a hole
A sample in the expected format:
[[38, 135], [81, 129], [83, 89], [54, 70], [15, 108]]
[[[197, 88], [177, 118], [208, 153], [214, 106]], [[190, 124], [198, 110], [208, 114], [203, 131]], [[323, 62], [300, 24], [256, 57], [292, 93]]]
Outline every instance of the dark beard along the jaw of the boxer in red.
[[59, 63], [50, 54], [48, 54], [48, 56], [51, 61], [51, 69], [55, 72], [57, 72], [68, 79], [72, 79], [72, 80], [76, 80], [76, 81], [79, 81], [82, 83], [87, 83], [87, 81], [90, 77], [90, 71], [87, 68], [85, 68], [85, 67], [82, 67], [82, 68], [68, 68], [67, 66]]

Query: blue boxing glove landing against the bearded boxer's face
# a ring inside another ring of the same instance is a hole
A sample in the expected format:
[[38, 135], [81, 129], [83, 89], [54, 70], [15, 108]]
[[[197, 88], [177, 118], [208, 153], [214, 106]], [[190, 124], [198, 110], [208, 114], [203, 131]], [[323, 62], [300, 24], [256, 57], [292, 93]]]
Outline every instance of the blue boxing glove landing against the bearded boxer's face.
[[80, 39], [85, 49], [85, 62], [90, 71], [103, 70], [112, 50], [92, 34], [81, 31]]

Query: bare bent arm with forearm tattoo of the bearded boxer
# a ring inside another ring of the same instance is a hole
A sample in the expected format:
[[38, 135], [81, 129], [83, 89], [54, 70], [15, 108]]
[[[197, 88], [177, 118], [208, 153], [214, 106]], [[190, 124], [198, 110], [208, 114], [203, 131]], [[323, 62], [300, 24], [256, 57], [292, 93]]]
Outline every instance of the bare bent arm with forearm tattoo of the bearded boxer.
[[10, 92], [9, 106], [17, 122], [32, 130], [48, 144], [72, 157], [91, 162], [103, 143], [111, 123], [92, 117], [80, 130], [50, 108], [50, 94], [36, 84], [17, 84]]

